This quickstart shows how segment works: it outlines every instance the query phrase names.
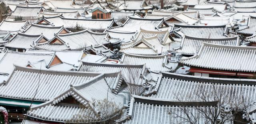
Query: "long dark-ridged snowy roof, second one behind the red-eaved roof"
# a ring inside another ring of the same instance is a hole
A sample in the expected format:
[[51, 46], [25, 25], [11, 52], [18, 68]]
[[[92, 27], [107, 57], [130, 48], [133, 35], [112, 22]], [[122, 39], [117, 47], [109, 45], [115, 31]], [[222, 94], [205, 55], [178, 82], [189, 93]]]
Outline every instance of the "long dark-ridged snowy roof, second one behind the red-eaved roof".
[[181, 31], [184, 35], [198, 38], [223, 38], [228, 29], [222, 26], [182, 26], [174, 25], [174, 31]]

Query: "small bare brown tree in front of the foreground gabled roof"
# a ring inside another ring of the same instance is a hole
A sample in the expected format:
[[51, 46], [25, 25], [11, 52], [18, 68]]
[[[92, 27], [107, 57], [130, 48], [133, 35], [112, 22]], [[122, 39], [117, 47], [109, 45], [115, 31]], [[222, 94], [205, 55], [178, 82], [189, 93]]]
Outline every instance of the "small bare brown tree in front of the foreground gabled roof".
[[80, 114], [73, 116], [73, 124], [114, 124], [115, 120], [118, 120], [123, 113], [123, 108], [119, 104], [107, 99], [93, 100], [92, 106], [84, 109], [81, 109]]

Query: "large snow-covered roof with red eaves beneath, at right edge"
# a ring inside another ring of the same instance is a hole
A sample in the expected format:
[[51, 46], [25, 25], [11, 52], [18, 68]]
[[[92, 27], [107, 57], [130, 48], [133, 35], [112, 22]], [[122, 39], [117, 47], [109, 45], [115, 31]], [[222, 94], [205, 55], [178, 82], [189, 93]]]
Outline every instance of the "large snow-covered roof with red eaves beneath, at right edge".
[[180, 63], [207, 69], [256, 72], [253, 64], [256, 59], [255, 54], [255, 47], [203, 43], [198, 54], [183, 58]]

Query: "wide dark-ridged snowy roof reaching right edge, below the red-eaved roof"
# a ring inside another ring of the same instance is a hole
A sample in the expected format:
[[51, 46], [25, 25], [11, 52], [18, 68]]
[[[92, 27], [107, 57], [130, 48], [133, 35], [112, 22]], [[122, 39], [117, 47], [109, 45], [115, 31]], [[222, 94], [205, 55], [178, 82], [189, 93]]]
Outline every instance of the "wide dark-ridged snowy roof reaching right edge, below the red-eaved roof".
[[[166, 101], [178, 101], [179, 98], [184, 100], [187, 98], [196, 99], [198, 97], [198, 88], [208, 87], [207, 91], [211, 91], [212, 85], [216, 89], [223, 89], [224, 94], [229, 93], [230, 96], [244, 95], [251, 99], [256, 99], [254, 94], [255, 80], [252, 79], [221, 79], [209, 77], [196, 77], [191, 75], [181, 75], [176, 73], [162, 72], [158, 83], [147, 95], [150, 98], [162, 99]], [[196, 87], [195, 87], [196, 86]], [[206, 89], [200, 89], [206, 91]], [[206, 91], [206, 92], [207, 92]], [[200, 100], [200, 98], [198, 98]]]

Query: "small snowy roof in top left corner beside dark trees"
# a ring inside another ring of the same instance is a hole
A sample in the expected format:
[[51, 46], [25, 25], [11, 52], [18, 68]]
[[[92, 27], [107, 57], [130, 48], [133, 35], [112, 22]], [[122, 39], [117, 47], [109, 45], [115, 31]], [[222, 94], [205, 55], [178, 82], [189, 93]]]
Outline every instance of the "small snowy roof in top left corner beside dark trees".
[[38, 12], [40, 11], [42, 11], [42, 7], [17, 6], [11, 16], [36, 18], [38, 16]]

